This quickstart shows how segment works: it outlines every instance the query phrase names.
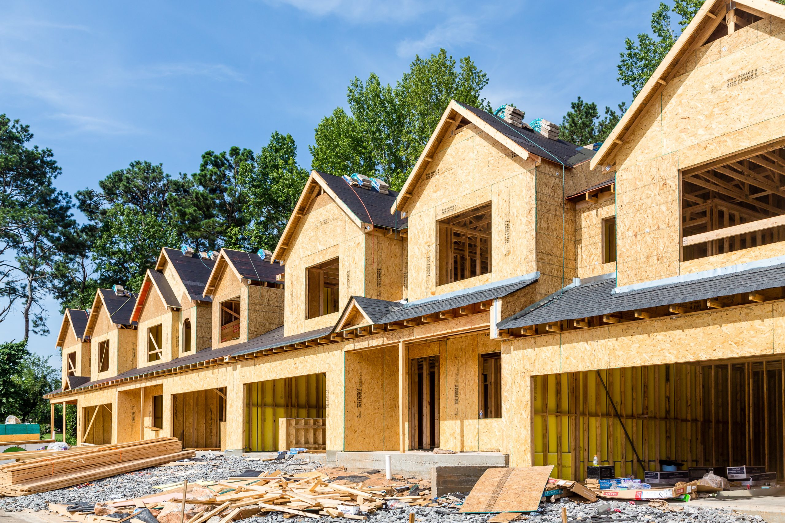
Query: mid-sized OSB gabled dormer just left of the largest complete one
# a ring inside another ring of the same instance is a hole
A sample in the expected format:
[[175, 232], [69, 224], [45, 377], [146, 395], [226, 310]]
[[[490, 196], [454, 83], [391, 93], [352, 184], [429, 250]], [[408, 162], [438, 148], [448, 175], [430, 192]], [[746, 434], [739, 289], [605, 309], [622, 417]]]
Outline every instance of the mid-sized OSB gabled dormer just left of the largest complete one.
[[383, 181], [313, 170], [279, 240], [287, 283], [284, 333], [334, 325], [349, 298], [406, 296], [407, 220], [389, 214]]

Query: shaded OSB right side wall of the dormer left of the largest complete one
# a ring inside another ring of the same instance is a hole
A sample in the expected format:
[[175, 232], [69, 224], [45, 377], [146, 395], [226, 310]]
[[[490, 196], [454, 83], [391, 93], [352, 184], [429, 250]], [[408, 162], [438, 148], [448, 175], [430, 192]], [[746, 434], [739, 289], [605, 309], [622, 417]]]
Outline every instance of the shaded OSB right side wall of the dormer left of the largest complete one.
[[[365, 297], [395, 302], [403, 298], [400, 236], [386, 237], [375, 231], [365, 235]], [[344, 274], [345, 277], [345, 274]]]

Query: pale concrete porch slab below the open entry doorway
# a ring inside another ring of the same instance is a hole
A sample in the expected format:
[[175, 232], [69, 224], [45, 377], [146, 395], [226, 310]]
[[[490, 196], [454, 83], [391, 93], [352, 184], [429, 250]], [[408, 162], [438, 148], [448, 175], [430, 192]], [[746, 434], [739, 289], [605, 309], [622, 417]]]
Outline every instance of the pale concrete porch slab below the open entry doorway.
[[429, 451], [400, 452], [327, 452], [327, 464], [347, 469], [385, 470], [385, 455], [390, 456], [392, 474], [427, 478], [433, 466], [509, 466], [509, 454], [502, 452], [457, 452], [434, 454]]

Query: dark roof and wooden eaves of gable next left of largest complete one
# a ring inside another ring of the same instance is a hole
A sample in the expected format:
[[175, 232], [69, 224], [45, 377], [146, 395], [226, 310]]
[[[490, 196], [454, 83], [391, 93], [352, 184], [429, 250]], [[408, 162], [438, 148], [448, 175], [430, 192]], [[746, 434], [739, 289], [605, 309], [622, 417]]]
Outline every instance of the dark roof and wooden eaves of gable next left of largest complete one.
[[300, 193], [300, 199], [287, 221], [287, 226], [278, 240], [276, 251], [272, 253], [272, 259], [283, 259], [283, 253], [289, 247], [300, 220], [305, 216], [305, 210], [308, 209], [312, 199], [319, 196], [322, 191], [326, 192], [360, 229], [363, 228], [363, 224], [394, 230], [407, 228], [406, 218], [392, 216], [389, 212], [390, 205], [395, 203], [398, 196], [397, 192], [389, 191], [389, 194], [382, 194], [373, 189], [353, 187], [340, 176], [312, 170]]

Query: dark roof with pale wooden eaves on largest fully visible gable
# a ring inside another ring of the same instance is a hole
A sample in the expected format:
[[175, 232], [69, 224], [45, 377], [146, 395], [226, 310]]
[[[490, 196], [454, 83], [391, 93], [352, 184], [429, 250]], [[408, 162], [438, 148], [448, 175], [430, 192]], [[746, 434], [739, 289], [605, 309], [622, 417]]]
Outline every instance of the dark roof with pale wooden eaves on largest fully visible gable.
[[425, 173], [425, 169], [433, 159], [433, 155], [436, 153], [442, 139], [447, 136], [453, 125], [457, 126], [458, 123], [464, 123], [464, 120], [479, 127], [480, 130], [506, 148], [509, 148], [510, 151], [516, 152], [522, 159], [528, 159], [531, 155], [535, 161], [546, 159], [571, 168], [589, 161], [595, 154], [591, 149], [571, 144], [568, 141], [551, 140], [540, 133], [536, 133], [534, 130], [519, 129], [483, 109], [453, 100], [444, 109], [444, 114], [442, 114], [439, 123], [436, 124], [436, 129], [433, 130], [428, 143], [422, 149], [422, 154], [420, 154], [417, 163], [414, 164], [411, 174], [407, 177], [403, 188], [400, 189], [400, 193], [390, 209], [391, 213], [394, 213], [396, 210], [403, 210], [406, 207], [414, 192], [414, 188]]

